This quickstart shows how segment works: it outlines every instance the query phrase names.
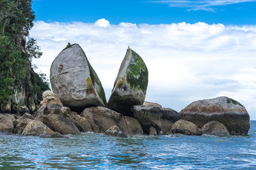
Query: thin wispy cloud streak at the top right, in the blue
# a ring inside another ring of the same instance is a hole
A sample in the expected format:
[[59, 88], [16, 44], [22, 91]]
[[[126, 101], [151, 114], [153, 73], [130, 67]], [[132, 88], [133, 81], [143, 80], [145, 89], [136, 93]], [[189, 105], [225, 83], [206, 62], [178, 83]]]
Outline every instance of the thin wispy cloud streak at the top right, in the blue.
[[170, 7], [188, 8], [189, 11], [193, 10], [205, 10], [214, 11], [214, 6], [224, 6], [228, 4], [248, 3], [255, 2], [256, 0], [205, 0], [205, 1], [193, 1], [193, 0], [163, 0], [163, 1], [149, 1], [150, 3], [166, 3]]

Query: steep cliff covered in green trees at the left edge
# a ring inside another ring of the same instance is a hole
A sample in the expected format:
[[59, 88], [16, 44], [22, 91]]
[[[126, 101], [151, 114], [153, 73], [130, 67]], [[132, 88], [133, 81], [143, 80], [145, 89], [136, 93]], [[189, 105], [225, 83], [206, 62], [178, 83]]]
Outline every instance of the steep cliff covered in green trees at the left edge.
[[31, 0], [0, 0], [0, 113], [35, 111], [49, 89], [45, 74], [31, 60], [42, 55], [29, 30], [35, 15]]

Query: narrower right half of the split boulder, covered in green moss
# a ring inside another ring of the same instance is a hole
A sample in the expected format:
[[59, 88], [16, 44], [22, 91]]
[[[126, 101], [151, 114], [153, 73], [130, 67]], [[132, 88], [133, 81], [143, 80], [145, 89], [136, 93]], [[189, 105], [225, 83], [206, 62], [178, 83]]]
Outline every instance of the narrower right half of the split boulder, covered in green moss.
[[148, 86], [148, 69], [138, 53], [127, 49], [107, 107], [132, 116], [131, 107], [143, 104]]

